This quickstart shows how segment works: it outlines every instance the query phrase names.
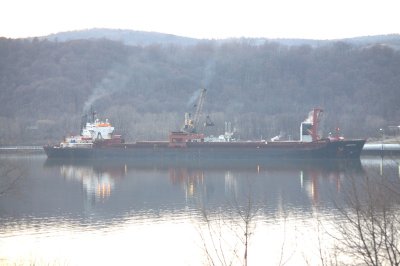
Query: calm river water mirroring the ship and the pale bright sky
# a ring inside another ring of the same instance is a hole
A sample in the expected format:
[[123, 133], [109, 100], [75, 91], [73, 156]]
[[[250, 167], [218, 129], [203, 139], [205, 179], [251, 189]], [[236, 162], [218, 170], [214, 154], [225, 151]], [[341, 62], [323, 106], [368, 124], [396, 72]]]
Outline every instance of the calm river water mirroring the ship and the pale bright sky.
[[397, 182], [398, 162], [180, 165], [3, 155], [0, 265], [351, 263], [331, 237], [339, 206], [354, 180]]

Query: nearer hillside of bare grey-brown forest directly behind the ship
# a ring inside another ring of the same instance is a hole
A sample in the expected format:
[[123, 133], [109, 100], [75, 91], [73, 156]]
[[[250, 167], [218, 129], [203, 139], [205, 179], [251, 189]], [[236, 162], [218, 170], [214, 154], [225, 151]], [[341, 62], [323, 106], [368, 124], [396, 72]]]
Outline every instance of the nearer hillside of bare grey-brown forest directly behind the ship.
[[400, 54], [346, 42], [285, 46], [241, 41], [125, 45], [105, 39], [52, 42], [0, 38], [0, 144], [43, 144], [79, 133], [94, 106], [127, 140], [164, 139], [207, 89], [204, 115], [221, 134], [298, 138], [313, 107], [323, 131], [376, 137], [398, 125]]

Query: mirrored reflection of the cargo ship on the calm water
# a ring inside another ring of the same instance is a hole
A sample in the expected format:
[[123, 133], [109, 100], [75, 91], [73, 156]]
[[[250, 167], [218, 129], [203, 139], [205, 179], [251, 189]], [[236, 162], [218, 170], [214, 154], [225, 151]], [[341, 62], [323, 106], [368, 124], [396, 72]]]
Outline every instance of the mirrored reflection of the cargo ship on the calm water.
[[[191, 200], [191, 207], [198, 207], [199, 202], [205, 204], [207, 199], [212, 202], [217, 199], [223, 201], [223, 198], [227, 197], [238, 198], [250, 187], [254, 200], [265, 199], [269, 197], [268, 195], [275, 197], [277, 193], [289, 193], [293, 200], [305, 196], [311, 203], [317, 203], [320, 189], [339, 193], [346, 172], [362, 173], [360, 160], [275, 160], [234, 163], [219, 161], [182, 165], [175, 161], [138, 163], [120, 160], [74, 162], [47, 159], [45, 168], [59, 168], [61, 176], [67, 180], [79, 180], [89, 201], [106, 200], [118, 183], [124, 183], [128, 188], [131, 183], [129, 178], [125, 181], [123, 179], [133, 176], [136, 182], [131, 192], [141, 189], [141, 184], [144, 185], [143, 190], [148, 190], [147, 186], [159, 187], [160, 183], [169, 180], [171, 185], [180, 188], [186, 203]], [[165, 179], [167, 177], [168, 179]], [[159, 183], [156, 179], [162, 180]], [[329, 187], [325, 183], [329, 184]], [[157, 189], [162, 190], [160, 187]], [[122, 192], [120, 189], [117, 190], [118, 193]], [[129, 193], [128, 190], [124, 191]], [[152, 198], [145, 199], [145, 202], [157, 199], [157, 194], [144, 195]], [[272, 202], [275, 200], [276, 198], [271, 199]]]

